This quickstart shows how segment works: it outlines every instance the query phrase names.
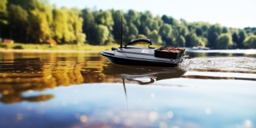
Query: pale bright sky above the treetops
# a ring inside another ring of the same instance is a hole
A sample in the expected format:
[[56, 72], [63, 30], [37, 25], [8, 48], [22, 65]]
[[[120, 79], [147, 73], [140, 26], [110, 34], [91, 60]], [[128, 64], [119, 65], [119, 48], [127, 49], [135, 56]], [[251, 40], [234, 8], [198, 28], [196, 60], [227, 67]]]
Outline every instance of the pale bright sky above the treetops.
[[256, 27], [256, 0], [50, 0], [58, 7], [97, 10], [129, 9], [154, 15], [166, 14], [188, 22], [220, 23], [232, 28]]

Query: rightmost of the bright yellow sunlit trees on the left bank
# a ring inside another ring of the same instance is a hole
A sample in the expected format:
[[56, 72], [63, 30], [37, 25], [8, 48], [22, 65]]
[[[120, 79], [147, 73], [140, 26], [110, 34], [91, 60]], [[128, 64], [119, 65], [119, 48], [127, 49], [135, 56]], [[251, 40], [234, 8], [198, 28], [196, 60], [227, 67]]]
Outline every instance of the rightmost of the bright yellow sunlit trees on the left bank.
[[53, 38], [60, 44], [83, 44], [86, 35], [82, 33], [81, 11], [63, 7], [53, 9]]

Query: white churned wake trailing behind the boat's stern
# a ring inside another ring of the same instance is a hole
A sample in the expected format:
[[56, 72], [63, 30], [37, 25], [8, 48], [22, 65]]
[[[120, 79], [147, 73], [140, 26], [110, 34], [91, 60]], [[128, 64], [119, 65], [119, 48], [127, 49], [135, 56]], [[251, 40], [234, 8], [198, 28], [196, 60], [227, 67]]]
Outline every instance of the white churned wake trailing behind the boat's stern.
[[180, 65], [184, 70], [226, 70], [256, 73], [256, 58], [250, 57], [197, 57], [186, 59]]

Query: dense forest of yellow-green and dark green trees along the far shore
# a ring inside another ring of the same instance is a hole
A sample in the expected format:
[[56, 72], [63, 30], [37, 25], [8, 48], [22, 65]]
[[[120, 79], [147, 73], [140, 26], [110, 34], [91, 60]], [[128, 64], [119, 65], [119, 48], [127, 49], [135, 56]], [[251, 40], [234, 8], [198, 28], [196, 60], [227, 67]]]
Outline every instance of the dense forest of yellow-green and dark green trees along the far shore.
[[43, 0], [4, 0], [0, 6], [0, 42], [118, 44], [123, 15], [124, 42], [134, 38], [149, 38], [158, 45], [256, 49], [255, 27], [238, 29], [218, 23], [188, 22], [165, 14], [154, 16], [150, 11], [59, 8]]

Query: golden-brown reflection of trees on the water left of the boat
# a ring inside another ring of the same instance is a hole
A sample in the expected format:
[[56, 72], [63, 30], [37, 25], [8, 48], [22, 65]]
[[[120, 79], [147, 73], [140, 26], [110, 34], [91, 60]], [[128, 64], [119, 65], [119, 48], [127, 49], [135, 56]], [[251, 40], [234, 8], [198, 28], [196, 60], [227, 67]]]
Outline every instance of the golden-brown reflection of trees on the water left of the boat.
[[[110, 82], [113, 76], [101, 74], [103, 58], [88, 54], [29, 55], [2, 53], [0, 59], [1, 102], [45, 101], [54, 95], [23, 97], [23, 92], [44, 91], [58, 86]], [[14, 54], [14, 55], [13, 55]], [[12, 58], [10, 58], [12, 57]], [[35, 57], [35, 58], [33, 58]]]

